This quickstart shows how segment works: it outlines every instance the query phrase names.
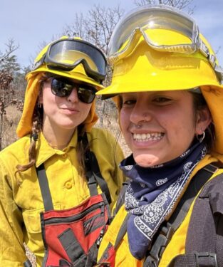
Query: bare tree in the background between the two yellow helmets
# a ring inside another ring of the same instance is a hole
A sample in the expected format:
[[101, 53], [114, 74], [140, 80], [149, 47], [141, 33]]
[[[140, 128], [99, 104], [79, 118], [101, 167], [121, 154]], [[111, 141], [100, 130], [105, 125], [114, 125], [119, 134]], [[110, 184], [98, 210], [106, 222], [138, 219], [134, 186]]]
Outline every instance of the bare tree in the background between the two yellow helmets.
[[[86, 16], [83, 14], [76, 14], [75, 20], [71, 25], [63, 28], [63, 35], [78, 36], [85, 41], [95, 44], [105, 54], [108, 53], [108, 43], [113, 30], [123, 16], [124, 10], [120, 6], [114, 8], [105, 8], [104, 6], [95, 5], [90, 9]], [[108, 75], [104, 81], [104, 85], [110, 84], [111, 70], [108, 66]], [[100, 126], [104, 122], [109, 125], [110, 116], [108, 114], [114, 113], [114, 103], [112, 101], [101, 101], [97, 99], [97, 112], [100, 117]]]

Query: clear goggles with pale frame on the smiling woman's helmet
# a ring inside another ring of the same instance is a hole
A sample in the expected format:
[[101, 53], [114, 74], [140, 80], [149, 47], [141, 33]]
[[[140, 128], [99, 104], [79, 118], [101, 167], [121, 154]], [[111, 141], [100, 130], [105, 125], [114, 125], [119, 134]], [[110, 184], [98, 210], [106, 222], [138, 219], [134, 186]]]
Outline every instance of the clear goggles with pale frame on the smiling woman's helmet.
[[[177, 40], [162, 40], [157, 31], [160, 29], [180, 33], [179, 38]], [[121, 19], [110, 38], [109, 63], [113, 65], [121, 58], [130, 55], [141, 36], [150, 47], [157, 51], [186, 54], [200, 51], [222, 80], [222, 69], [217, 65], [217, 58], [199, 37], [199, 28], [195, 21], [172, 6], [140, 6]]]

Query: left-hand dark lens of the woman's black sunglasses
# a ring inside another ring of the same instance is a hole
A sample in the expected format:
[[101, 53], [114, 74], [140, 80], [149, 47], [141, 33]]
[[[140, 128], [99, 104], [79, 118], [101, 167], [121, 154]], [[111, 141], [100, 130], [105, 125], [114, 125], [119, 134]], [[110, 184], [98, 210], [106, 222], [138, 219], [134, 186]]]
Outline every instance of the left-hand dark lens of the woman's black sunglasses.
[[63, 98], [65, 96], [71, 95], [72, 90], [73, 85], [67, 83], [67, 81], [53, 78], [51, 82], [51, 91], [53, 95]]

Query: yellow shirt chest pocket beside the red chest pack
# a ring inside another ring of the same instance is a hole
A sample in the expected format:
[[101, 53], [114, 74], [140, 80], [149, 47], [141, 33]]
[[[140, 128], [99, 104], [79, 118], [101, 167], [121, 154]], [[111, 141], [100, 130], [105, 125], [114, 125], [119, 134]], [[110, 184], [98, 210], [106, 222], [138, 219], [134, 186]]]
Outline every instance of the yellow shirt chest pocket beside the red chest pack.
[[[56, 204], [53, 205], [54, 209], [60, 210], [61, 205]], [[24, 224], [26, 227], [26, 231], [30, 234], [39, 234], [41, 233], [41, 218], [40, 214], [44, 209], [26, 209], [23, 211]]]

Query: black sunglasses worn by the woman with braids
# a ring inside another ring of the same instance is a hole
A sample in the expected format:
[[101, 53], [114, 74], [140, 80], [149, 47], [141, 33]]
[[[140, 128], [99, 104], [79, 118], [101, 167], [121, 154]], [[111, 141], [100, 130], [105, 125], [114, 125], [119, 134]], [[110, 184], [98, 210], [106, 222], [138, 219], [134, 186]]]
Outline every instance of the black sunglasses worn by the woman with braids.
[[68, 97], [71, 95], [73, 88], [76, 88], [78, 93], [78, 99], [85, 104], [90, 104], [95, 99], [95, 93], [97, 90], [85, 83], [73, 83], [71, 80], [64, 78], [52, 78], [51, 80], [51, 92], [53, 95], [60, 98]]

